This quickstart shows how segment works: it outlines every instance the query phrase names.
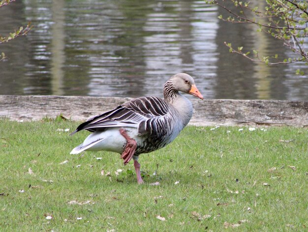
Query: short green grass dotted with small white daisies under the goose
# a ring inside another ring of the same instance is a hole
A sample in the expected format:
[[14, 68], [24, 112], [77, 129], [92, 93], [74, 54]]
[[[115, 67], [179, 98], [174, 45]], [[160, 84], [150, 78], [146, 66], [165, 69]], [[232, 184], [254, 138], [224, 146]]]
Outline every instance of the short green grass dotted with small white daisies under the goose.
[[0, 231], [307, 230], [307, 128], [187, 127], [140, 156], [138, 185], [119, 154], [69, 154], [89, 133], [57, 129], [72, 132], [76, 122], [0, 124]]

